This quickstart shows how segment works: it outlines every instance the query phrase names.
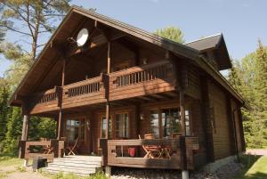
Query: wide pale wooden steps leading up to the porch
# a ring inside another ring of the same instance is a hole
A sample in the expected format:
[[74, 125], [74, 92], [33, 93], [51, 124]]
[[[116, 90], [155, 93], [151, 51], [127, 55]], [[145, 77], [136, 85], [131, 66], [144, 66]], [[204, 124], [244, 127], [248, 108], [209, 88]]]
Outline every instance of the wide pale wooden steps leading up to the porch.
[[96, 156], [66, 156], [64, 158], [53, 159], [44, 167], [43, 171], [51, 174], [62, 172], [72, 173], [79, 176], [93, 175], [101, 170], [101, 157]]

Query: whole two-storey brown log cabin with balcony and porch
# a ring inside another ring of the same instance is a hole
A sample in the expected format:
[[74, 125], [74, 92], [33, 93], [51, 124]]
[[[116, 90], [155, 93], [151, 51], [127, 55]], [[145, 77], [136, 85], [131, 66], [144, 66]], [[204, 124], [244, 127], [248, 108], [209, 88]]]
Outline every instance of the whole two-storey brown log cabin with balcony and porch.
[[[20, 158], [61, 158], [77, 139], [75, 152], [102, 156], [108, 172], [188, 171], [237, 156], [246, 104], [223, 69], [231, 69], [223, 34], [179, 44], [73, 6], [12, 94], [23, 113]], [[28, 141], [30, 116], [56, 120], [57, 139]]]

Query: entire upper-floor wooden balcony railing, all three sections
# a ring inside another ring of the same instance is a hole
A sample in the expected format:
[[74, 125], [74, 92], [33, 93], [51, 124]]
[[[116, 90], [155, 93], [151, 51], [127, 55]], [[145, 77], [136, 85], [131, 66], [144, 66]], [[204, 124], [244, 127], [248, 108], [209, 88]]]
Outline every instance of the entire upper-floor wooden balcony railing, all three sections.
[[133, 67], [80, 81], [56, 86], [31, 96], [31, 114], [69, 109], [171, 92], [176, 87], [174, 65], [159, 61], [141, 67]]

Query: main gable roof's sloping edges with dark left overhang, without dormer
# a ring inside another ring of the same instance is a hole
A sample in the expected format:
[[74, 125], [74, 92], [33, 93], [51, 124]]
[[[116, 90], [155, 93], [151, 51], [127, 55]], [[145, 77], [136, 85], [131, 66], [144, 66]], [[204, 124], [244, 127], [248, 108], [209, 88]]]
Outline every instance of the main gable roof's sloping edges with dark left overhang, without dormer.
[[[74, 20], [74, 16], [77, 20]], [[222, 75], [219, 74], [213, 67], [203, 60], [202, 56], [199, 56], [198, 49], [190, 47], [190, 45], [182, 45], [175, 43], [174, 41], [168, 40], [164, 37], [158, 37], [140, 28], [135, 28], [134, 26], [128, 25], [126, 23], [120, 22], [118, 20], [113, 20], [109, 17], [101, 15], [96, 12], [87, 11], [83, 8], [72, 6], [68, 14], [62, 20], [59, 28], [56, 29], [53, 36], [50, 38], [48, 43], [44, 46], [43, 51], [39, 54], [36, 61], [34, 62], [31, 69], [28, 70], [26, 76], [20, 82], [16, 91], [12, 94], [10, 104], [20, 106], [22, 101], [20, 96], [28, 95], [33, 90], [36, 83], [42, 80], [45, 76], [45, 72], [53, 64], [53, 60], [59, 56], [57, 49], [53, 48], [53, 43], [60, 39], [67, 39], [69, 34], [71, 34], [71, 29], [80, 23], [79, 18], [90, 18], [92, 20], [97, 20], [111, 28], [117, 28], [128, 35], [141, 38], [142, 40], [149, 42], [153, 45], [158, 45], [170, 52], [183, 56], [185, 58], [194, 60], [197, 62], [200, 68], [203, 68], [213, 76], [221, 85], [223, 85], [232, 95], [234, 95], [239, 102], [244, 102], [241, 96], [236, 93], [231, 85], [224, 79]], [[68, 24], [67, 24], [68, 22]], [[46, 56], [44, 55], [46, 54]], [[47, 56], [48, 54], [48, 56]], [[37, 70], [38, 69], [38, 70]]]

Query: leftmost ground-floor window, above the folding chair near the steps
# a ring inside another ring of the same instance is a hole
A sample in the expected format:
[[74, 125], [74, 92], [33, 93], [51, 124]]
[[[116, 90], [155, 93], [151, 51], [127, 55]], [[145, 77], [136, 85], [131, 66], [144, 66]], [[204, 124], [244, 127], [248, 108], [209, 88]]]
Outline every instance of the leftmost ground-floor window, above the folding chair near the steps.
[[67, 119], [66, 129], [69, 142], [85, 139], [85, 119]]

